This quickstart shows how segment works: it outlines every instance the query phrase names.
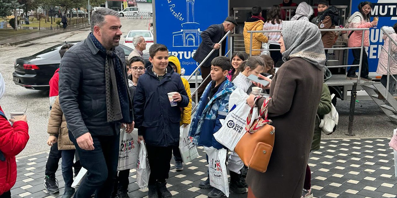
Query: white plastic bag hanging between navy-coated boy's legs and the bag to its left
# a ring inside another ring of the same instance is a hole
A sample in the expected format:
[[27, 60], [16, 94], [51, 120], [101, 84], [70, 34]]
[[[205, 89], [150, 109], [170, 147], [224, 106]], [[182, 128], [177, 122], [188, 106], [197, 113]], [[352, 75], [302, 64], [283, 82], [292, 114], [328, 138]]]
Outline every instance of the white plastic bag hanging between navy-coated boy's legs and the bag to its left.
[[149, 160], [146, 153], [145, 143], [141, 140], [137, 162], [137, 183], [142, 190], [148, 186], [150, 176]]

